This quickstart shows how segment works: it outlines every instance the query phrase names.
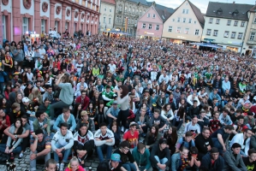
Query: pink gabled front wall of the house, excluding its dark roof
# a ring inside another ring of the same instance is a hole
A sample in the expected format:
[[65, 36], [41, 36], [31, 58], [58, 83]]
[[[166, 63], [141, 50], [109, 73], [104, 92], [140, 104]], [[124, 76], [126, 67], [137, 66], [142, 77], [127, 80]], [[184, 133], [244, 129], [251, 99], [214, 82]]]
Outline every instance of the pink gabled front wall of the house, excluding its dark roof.
[[[149, 14], [149, 15], [148, 15]], [[153, 17], [155, 15], [155, 17]], [[152, 26], [150, 29], [149, 26]], [[143, 26], [146, 26], [143, 28]], [[158, 30], [156, 27], [159, 27]], [[151, 7], [142, 15], [138, 21], [136, 36], [149, 36], [154, 38], [161, 38], [163, 32], [163, 21], [159, 17], [157, 11]]]

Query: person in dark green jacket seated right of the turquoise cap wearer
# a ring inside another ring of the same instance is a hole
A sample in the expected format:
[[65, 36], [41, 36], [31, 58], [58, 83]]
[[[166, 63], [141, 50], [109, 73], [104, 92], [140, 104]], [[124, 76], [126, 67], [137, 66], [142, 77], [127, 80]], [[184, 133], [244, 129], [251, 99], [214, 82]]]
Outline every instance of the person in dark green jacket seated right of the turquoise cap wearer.
[[150, 152], [146, 149], [145, 144], [139, 143], [132, 151], [134, 160], [137, 163], [140, 171], [152, 171], [150, 162]]

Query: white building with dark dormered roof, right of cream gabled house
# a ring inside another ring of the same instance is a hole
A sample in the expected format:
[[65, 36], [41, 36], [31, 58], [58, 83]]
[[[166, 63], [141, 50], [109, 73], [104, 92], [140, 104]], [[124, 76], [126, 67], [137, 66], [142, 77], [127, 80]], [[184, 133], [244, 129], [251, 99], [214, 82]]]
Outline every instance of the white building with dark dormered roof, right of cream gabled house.
[[223, 47], [223, 50], [241, 52], [247, 29], [247, 11], [253, 5], [210, 2], [205, 15], [202, 41]]

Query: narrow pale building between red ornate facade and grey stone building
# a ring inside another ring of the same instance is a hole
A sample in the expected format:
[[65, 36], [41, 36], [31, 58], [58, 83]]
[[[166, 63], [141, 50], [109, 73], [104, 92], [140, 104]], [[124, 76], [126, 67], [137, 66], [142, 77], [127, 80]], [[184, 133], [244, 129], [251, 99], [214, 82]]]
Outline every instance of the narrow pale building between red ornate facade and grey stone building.
[[100, 32], [110, 31], [114, 27], [116, 2], [115, 0], [101, 0]]

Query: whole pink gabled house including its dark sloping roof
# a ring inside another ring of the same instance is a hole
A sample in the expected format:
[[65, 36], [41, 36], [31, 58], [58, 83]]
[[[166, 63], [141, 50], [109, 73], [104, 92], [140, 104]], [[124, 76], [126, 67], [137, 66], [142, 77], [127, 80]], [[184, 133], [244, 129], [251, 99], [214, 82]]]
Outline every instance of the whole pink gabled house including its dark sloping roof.
[[162, 5], [152, 3], [151, 8], [138, 20], [137, 38], [161, 38], [164, 21], [173, 13], [174, 9], [168, 9]]

